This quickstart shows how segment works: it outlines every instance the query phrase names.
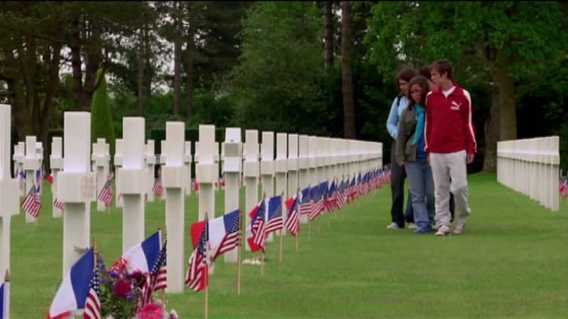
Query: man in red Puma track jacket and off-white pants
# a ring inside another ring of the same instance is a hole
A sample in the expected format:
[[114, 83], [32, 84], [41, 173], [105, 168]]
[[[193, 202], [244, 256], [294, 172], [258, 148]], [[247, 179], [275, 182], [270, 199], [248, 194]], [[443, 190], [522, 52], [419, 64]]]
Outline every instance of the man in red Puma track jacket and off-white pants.
[[456, 204], [454, 233], [461, 234], [466, 216], [471, 215], [466, 163], [474, 161], [477, 147], [471, 97], [452, 81], [453, 66], [448, 60], [434, 62], [430, 73], [437, 88], [426, 96], [425, 148], [434, 176], [436, 235], [449, 235], [450, 191]]

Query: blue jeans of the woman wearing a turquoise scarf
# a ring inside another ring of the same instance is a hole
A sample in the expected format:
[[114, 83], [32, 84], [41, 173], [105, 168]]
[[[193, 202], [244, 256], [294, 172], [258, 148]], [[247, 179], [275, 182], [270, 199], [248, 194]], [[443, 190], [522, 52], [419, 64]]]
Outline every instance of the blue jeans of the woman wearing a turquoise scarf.
[[405, 169], [410, 182], [414, 223], [418, 230], [431, 230], [435, 216], [432, 168], [426, 159], [416, 159], [415, 162], [405, 162]]

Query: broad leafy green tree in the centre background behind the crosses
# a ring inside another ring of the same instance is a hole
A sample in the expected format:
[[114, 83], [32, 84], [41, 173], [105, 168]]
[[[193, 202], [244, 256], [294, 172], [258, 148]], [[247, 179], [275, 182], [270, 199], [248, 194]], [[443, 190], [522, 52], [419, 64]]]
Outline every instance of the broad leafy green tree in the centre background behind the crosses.
[[239, 124], [323, 133], [321, 11], [308, 2], [258, 2], [244, 20], [243, 53], [230, 91]]

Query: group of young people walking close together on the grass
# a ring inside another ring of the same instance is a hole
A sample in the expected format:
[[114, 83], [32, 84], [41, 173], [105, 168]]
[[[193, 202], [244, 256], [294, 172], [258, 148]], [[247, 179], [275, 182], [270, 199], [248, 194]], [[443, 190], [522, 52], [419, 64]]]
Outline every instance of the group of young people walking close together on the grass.
[[[388, 115], [391, 148], [392, 223], [388, 229], [415, 228], [449, 235], [465, 229], [469, 208], [466, 165], [474, 161], [476, 140], [471, 97], [453, 80], [454, 67], [437, 60], [420, 70], [398, 72], [400, 94]], [[410, 184], [404, 206], [404, 181]]]

